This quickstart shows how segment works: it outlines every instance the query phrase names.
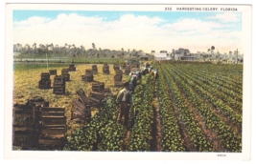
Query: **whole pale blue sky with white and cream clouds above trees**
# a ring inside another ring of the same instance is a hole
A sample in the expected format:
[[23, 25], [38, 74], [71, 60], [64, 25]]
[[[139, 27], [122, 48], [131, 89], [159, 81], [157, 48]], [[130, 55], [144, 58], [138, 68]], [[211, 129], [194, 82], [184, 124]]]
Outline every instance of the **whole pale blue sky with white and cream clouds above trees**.
[[13, 10], [14, 44], [85, 49], [243, 53], [242, 13], [203, 11]]

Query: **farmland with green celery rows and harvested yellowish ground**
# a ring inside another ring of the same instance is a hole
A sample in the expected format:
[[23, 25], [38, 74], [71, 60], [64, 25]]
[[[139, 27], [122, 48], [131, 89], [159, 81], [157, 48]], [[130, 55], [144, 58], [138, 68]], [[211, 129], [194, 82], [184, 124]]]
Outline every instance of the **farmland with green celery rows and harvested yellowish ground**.
[[[243, 65], [210, 63], [152, 63], [158, 78], [148, 73], [132, 92], [128, 127], [117, 123], [120, 109], [115, 101], [118, 88], [114, 70], [104, 74], [103, 64], [94, 80], [114, 92], [105, 107], [95, 109], [88, 124], [71, 120], [71, 100], [76, 91], [90, 92], [90, 83], [81, 81], [91, 64], [77, 65], [70, 72], [66, 93], [37, 88], [41, 72], [68, 65], [14, 65], [14, 104], [25, 104], [35, 96], [51, 107], [66, 109], [68, 141], [66, 151], [162, 151], [242, 152]], [[125, 77], [125, 75], [123, 75]], [[123, 78], [124, 78], [123, 77]], [[51, 80], [54, 81], [53, 76]]]

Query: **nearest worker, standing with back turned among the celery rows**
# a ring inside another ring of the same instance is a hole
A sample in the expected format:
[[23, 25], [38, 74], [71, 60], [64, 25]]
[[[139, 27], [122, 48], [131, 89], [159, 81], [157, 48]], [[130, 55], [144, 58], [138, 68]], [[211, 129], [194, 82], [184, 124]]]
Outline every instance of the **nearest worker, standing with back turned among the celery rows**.
[[121, 113], [118, 119], [118, 123], [121, 123], [123, 115], [125, 116], [124, 126], [128, 126], [128, 112], [131, 103], [131, 94], [128, 91], [128, 82], [124, 84], [124, 89], [121, 90], [117, 95], [117, 103], [121, 106]]

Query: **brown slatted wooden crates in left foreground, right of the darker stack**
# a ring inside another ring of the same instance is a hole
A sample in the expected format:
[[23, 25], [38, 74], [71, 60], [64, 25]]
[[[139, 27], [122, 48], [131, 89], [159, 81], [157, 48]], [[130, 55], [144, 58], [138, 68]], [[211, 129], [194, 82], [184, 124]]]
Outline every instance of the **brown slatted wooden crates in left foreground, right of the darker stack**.
[[41, 128], [38, 144], [43, 146], [64, 146], [66, 143], [66, 116], [64, 108], [41, 108]]

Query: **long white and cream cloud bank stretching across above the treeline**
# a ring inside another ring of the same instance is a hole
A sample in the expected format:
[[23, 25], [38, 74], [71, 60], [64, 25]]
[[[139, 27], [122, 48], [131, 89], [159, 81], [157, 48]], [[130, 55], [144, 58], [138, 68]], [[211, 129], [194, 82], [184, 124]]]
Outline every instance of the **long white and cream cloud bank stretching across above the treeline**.
[[[107, 21], [103, 17], [87, 17], [78, 14], [59, 14], [57, 19], [32, 17], [13, 22], [14, 43], [67, 44], [110, 50], [143, 50], [150, 52], [188, 48], [204, 51], [212, 45], [216, 49], [230, 51], [232, 45], [241, 47], [241, 32], [221, 30], [226, 27], [215, 22], [182, 19], [166, 24], [159, 17], [127, 14], [118, 20]], [[218, 30], [217, 30], [218, 29]], [[230, 46], [231, 45], [231, 46]], [[238, 49], [241, 49], [238, 47]], [[237, 49], [237, 48], [236, 48]]]

